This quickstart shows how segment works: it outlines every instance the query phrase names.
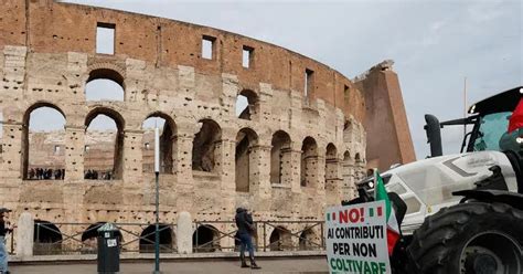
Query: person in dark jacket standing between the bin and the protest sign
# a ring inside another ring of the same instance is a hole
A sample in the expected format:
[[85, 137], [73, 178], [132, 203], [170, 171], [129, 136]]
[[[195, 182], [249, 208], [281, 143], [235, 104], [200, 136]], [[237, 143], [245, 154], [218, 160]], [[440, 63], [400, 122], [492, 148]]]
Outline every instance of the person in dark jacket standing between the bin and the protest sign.
[[236, 217], [234, 218], [238, 232], [236, 238], [239, 239], [239, 260], [242, 262], [242, 267], [249, 267], [245, 262], [245, 249], [248, 251], [250, 259], [250, 268], [258, 270], [262, 268], [256, 264], [254, 260], [254, 246], [253, 240], [250, 239], [250, 233], [254, 232], [254, 222], [253, 217], [244, 208], [236, 209]]

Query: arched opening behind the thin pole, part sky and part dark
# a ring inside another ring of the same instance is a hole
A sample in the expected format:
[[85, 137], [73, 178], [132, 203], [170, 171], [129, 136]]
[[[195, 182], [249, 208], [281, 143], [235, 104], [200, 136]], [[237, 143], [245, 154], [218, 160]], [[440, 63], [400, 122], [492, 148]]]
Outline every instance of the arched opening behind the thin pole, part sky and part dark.
[[174, 167], [174, 120], [163, 113], [153, 113], [143, 122], [142, 169], [154, 172], [154, 128], [160, 128], [160, 173], [172, 173]]

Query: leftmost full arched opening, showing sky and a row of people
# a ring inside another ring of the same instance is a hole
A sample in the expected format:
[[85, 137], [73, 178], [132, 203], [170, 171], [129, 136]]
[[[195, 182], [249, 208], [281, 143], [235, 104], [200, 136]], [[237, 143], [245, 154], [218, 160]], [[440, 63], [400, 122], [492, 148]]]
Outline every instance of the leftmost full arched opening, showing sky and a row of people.
[[55, 105], [39, 103], [23, 117], [22, 178], [65, 178], [65, 115]]

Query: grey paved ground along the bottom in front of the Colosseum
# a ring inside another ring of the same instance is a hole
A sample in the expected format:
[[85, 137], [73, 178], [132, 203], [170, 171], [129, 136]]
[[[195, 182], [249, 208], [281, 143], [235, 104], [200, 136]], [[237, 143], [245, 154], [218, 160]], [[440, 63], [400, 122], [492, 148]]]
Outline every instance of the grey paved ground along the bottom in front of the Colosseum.
[[[262, 259], [258, 262], [262, 270], [239, 268], [237, 261], [175, 261], [163, 262], [160, 270], [163, 274], [174, 273], [307, 273], [320, 274], [328, 273], [327, 260], [323, 259]], [[124, 263], [120, 265], [121, 274], [141, 274], [152, 273], [154, 263]], [[96, 262], [86, 264], [66, 264], [66, 265], [11, 265], [10, 271], [13, 274], [45, 274], [45, 273], [74, 273], [93, 274], [97, 272]]]

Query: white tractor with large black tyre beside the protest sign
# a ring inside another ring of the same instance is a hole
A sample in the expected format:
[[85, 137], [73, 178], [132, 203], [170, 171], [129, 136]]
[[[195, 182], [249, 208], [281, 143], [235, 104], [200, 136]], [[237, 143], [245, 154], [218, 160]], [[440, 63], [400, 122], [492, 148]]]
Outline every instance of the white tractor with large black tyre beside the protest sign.
[[[431, 156], [382, 175], [403, 234], [393, 272], [523, 273], [522, 93], [483, 99], [467, 118], [426, 115]], [[465, 125], [461, 152], [442, 156], [440, 128]], [[373, 178], [364, 179], [350, 202], [369, 200], [372, 188]]]

